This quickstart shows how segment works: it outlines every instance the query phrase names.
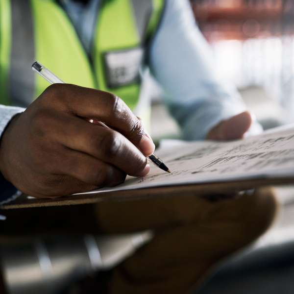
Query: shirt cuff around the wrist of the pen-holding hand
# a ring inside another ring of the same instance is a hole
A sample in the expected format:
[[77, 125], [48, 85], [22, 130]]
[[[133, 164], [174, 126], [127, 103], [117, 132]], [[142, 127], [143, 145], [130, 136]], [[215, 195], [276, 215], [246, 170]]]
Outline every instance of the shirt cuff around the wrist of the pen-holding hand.
[[[0, 138], [10, 120], [25, 108], [0, 105]], [[7, 203], [21, 195], [11, 183], [6, 181], [0, 173], [0, 204]]]

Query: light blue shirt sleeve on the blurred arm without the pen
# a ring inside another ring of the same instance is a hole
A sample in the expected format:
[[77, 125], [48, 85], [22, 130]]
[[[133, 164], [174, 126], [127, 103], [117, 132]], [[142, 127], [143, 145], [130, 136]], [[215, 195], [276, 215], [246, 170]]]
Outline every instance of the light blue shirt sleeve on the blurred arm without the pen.
[[[245, 110], [234, 87], [216, 75], [211, 49], [199, 31], [188, 0], [167, 0], [150, 47], [150, 69], [186, 140], [204, 139], [221, 120]], [[259, 133], [254, 122], [250, 133]]]

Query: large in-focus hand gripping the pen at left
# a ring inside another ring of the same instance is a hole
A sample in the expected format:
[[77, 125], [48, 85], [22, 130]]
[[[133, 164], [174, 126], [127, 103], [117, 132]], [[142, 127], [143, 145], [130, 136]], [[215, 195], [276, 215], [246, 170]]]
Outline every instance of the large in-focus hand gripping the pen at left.
[[123, 100], [54, 84], [7, 126], [0, 171], [25, 194], [64, 196], [117, 185], [126, 174], [145, 176], [150, 168], [146, 156], [153, 151], [152, 140]]

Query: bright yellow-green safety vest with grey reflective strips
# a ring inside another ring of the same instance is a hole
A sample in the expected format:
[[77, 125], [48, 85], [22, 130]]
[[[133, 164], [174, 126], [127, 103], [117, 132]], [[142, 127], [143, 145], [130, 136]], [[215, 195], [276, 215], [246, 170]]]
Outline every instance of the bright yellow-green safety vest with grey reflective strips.
[[164, 0], [100, 0], [90, 56], [54, 0], [0, 0], [0, 103], [27, 106], [48, 83], [31, 71], [38, 60], [67, 83], [138, 102]]

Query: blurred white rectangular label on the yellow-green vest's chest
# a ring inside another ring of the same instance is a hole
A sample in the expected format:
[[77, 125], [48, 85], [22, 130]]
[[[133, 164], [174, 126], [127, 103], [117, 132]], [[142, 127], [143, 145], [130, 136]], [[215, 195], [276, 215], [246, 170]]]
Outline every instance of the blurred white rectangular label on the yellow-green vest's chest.
[[144, 50], [142, 48], [105, 53], [108, 87], [117, 88], [137, 83], [140, 79], [143, 58]]

